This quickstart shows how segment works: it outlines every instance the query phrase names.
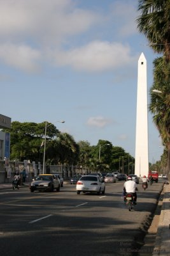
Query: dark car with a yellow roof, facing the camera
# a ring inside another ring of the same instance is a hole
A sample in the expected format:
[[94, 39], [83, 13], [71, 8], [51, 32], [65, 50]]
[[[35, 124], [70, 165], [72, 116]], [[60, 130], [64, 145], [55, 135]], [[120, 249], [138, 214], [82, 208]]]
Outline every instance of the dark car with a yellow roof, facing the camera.
[[53, 174], [39, 174], [30, 184], [30, 191], [50, 191], [54, 189], [60, 191], [60, 182]]

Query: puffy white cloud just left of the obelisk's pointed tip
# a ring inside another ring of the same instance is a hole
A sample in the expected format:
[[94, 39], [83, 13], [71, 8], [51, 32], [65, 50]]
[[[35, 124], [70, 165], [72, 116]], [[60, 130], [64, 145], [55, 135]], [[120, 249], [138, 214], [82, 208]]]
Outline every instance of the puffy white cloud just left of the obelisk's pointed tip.
[[137, 58], [131, 56], [131, 50], [127, 45], [101, 41], [90, 42], [83, 47], [55, 54], [57, 65], [69, 65], [76, 70], [90, 72], [101, 72], [131, 65]]

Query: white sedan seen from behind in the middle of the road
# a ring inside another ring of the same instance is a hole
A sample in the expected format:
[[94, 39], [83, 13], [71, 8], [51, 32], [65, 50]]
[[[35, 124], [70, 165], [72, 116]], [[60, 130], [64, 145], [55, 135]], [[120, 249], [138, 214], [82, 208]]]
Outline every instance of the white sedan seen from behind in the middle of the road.
[[83, 193], [96, 192], [100, 195], [100, 193], [105, 193], [105, 184], [98, 175], [83, 175], [76, 183], [76, 191], [78, 195], [81, 191]]

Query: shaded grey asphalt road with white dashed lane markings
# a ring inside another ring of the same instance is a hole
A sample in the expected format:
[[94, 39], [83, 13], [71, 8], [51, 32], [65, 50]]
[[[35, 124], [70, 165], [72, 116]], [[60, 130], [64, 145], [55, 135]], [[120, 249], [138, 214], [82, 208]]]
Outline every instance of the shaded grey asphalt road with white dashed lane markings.
[[77, 195], [71, 184], [53, 193], [1, 190], [1, 255], [138, 255], [163, 183], [146, 191], [139, 184], [131, 212], [121, 198], [123, 183], [106, 184], [105, 195]]

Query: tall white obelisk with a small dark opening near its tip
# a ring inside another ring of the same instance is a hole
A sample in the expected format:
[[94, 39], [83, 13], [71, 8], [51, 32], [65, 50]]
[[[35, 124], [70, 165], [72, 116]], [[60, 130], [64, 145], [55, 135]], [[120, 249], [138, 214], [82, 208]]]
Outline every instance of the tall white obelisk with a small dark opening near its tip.
[[135, 174], [148, 176], [148, 104], [147, 104], [146, 59], [143, 54], [138, 60], [138, 92], [136, 108]]

